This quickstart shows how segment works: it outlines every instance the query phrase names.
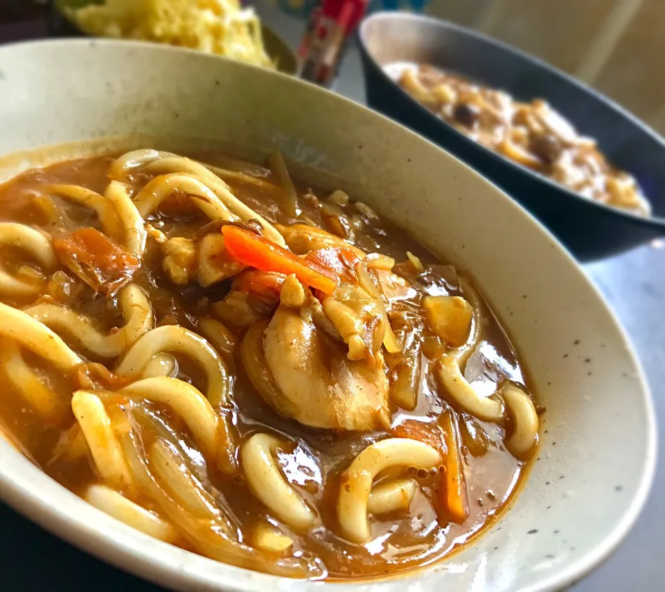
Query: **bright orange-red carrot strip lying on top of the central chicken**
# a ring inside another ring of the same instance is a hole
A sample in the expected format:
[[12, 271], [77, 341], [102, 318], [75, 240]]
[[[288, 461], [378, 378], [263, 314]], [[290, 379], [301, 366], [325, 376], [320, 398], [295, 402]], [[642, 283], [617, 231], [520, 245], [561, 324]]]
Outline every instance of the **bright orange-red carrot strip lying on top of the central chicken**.
[[222, 234], [227, 253], [242, 265], [285, 275], [294, 273], [305, 286], [326, 294], [332, 294], [339, 285], [339, 279], [330, 272], [308, 263], [263, 236], [231, 225], [223, 226]]

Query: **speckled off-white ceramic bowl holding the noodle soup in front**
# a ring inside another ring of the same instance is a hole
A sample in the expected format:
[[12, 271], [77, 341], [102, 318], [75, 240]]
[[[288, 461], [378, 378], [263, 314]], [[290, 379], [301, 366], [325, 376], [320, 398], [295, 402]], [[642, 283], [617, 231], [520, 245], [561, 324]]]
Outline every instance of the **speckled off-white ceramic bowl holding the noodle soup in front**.
[[540, 460], [511, 510], [472, 546], [406, 577], [357, 584], [283, 580], [155, 541], [0, 442], [3, 500], [116, 566], [187, 591], [551, 590], [582, 577], [617, 546], [655, 467], [648, 388], [601, 296], [515, 202], [400, 125], [287, 76], [149, 44], [0, 48], [0, 155], [83, 142], [4, 159], [0, 177], [118, 148], [127, 137], [134, 146], [175, 150], [222, 143], [265, 155], [279, 148], [296, 175], [362, 196], [470, 270], [547, 407]]

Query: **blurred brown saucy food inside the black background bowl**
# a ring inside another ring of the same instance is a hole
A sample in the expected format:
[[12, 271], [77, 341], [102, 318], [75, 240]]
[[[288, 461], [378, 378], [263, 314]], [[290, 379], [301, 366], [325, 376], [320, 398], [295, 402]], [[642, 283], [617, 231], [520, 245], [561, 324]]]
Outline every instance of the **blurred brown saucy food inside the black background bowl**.
[[426, 64], [386, 68], [416, 101], [485, 148], [549, 177], [583, 198], [650, 215], [637, 179], [613, 166], [596, 140], [577, 132], [547, 101], [507, 92]]

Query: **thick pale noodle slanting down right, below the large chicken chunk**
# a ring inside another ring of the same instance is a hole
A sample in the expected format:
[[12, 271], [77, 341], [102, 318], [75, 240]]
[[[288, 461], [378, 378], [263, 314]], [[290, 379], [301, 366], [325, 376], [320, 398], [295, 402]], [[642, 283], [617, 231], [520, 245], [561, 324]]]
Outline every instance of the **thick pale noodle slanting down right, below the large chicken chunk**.
[[240, 446], [247, 485], [277, 519], [296, 530], [307, 530], [319, 522], [319, 517], [277, 466], [279, 448], [279, 440], [269, 434], [254, 434]]

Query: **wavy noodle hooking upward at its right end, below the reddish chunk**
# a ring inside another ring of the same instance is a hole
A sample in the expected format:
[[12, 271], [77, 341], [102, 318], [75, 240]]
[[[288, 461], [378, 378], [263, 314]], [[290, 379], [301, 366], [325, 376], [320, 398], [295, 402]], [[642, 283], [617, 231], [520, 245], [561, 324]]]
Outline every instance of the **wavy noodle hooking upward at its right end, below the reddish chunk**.
[[150, 331], [154, 322], [150, 300], [139, 286], [130, 284], [123, 288], [118, 302], [125, 325], [108, 335], [97, 329], [90, 317], [61, 304], [36, 304], [26, 308], [24, 313], [99, 358], [116, 358]]

